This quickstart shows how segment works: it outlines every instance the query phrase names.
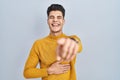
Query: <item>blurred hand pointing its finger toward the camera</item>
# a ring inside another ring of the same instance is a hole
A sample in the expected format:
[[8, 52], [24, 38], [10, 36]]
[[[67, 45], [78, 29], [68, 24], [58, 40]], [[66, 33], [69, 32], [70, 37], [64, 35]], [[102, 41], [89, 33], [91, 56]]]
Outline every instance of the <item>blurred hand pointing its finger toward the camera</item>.
[[57, 60], [70, 62], [74, 59], [78, 51], [78, 44], [70, 38], [61, 38], [58, 40]]

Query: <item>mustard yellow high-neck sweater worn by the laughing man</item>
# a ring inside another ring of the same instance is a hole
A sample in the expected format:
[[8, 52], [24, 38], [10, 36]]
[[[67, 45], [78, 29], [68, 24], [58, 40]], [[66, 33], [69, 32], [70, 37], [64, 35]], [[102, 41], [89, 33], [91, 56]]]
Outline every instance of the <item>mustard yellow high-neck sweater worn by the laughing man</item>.
[[[25, 78], [42, 78], [42, 80], [76, 80], [75, 59], [70, 62], [71, 69], [64, 74], [48, 75], [47, 68], [56, 61], [56, 47], [59, 38], [72, 37], [79, 40], [79, 50], [82, 50], [80, 39], [73, 36], [61, 34], [59, 36], [48, 35], [43, 39], [36, 40], [33, 44], [29, 57], [24, 67]], [[36, 68], [37, 64], [40, 68]]]

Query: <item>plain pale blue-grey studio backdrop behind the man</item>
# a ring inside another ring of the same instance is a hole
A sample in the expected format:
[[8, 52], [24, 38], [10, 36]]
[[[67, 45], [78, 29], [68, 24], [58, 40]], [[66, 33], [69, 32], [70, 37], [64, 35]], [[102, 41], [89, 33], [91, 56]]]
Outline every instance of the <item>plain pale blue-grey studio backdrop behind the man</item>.
[[0, 80], [25, 79], [33, 42], [49, 34], [46, 10], [66, 9], [64, 33], [78, 35], [77, 80], [120, 80], [120, 0], [0, 0]]

